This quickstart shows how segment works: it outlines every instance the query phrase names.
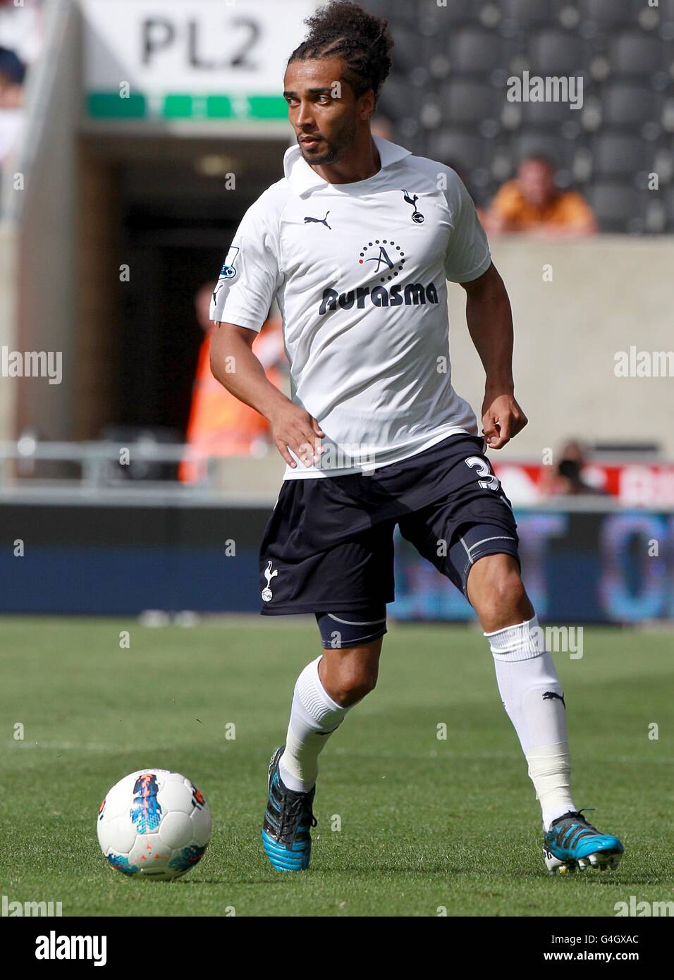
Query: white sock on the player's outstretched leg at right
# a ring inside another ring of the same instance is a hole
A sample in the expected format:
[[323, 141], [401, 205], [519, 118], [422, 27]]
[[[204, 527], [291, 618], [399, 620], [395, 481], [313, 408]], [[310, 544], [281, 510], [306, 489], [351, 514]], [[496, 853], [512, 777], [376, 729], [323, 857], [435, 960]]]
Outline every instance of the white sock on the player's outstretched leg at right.
[[[553, 658], [538, 617], [484, 634], [494, 655], [499, 691], [529, 763], [546, 830], [576, 807], [571, 799], [566, 716]], [[549, 695], [549, 697], [546, 697]]]

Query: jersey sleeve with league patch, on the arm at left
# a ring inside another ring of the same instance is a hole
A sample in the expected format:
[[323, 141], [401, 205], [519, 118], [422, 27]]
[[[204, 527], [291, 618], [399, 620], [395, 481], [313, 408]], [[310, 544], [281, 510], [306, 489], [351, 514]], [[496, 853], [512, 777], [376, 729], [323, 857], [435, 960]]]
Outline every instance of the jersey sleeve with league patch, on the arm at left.
[[281, 281], [277, 239], [260, 202], [236, 229], [211, 300], [210, 318], [260, 332]]

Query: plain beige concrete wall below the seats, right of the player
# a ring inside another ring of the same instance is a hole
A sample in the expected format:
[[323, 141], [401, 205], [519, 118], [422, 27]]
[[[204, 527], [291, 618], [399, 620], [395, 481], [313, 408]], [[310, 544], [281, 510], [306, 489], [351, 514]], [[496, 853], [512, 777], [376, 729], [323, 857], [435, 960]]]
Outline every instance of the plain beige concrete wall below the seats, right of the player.
[[[528, 426], [504, 457], [540, 461], [568, 436], [657, 442], [674, 458], [674, 377], [616, 377], [617, 351], [674, 351], [674, 239], [494, 238], [515, 323], [515, 393]], [[553, 281], [544, 281], [544, 266]], [[484, 371], [450, 287], [453, 382], [479, 415]]]

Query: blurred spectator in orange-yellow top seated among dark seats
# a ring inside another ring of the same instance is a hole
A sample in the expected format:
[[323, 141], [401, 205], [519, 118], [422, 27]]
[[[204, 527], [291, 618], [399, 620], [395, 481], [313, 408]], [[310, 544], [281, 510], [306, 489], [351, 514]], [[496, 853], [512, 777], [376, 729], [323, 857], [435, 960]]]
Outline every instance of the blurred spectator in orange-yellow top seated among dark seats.
[[574, 190], [561, 190], [546, 157], [529, 157], [514, 180], [497, 192], [483, 216], [491, 234], [526, 232], [544, 237], [594, 235], [599, 226], [590, 206]]

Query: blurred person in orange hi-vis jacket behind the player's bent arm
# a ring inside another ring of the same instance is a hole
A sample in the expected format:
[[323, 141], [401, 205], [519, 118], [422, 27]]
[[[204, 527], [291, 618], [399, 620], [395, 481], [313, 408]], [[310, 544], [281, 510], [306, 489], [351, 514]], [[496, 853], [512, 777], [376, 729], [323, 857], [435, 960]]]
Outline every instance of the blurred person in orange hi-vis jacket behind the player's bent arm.
[[[211, 456], [262, 456], [269, 445], [268, 421], [230, 395], [211, 371], [211, 335], [215, 323], [209, 319], [209, 307], [215, 287], [215, 282], [206, 282], [194, 297], [196, 317], [205, 337], [199, 352], [185, 441], [204, 460]], [[279, 368], [287, 366], [280, 319], [267, 319], [253, 343], [253, 351], [269, 381], [280, 388], [283, 377]], [[183, 460], [178, 469], [178, 478], [184, 483], [193, 483], [203, 475], [201, 460]]]

